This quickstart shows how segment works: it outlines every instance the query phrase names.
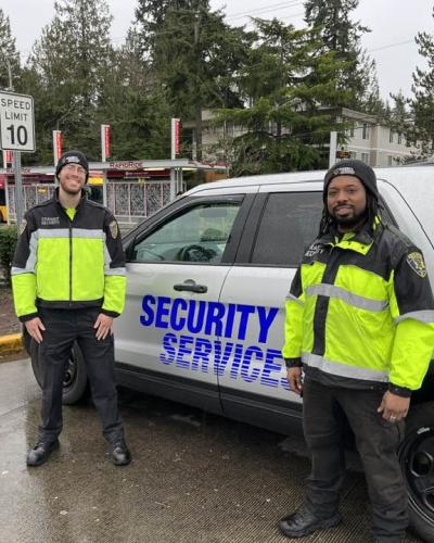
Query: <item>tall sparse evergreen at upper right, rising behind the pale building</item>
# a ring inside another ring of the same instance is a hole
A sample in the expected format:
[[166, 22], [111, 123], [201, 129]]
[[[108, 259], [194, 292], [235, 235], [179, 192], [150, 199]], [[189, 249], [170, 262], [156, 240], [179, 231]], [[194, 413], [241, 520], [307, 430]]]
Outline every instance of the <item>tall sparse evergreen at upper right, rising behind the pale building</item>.
[[358, 3], [359, 0], [306, 0], [305, 21], [319, 28], [324, 50], [334, 51], [344, 61], [340, 86], [352, 92], [341, 105], [376, 113], [384, 104], [379, 98], [375, 63], [360, 46], [361, 36], [370, 30], [350, 20]]

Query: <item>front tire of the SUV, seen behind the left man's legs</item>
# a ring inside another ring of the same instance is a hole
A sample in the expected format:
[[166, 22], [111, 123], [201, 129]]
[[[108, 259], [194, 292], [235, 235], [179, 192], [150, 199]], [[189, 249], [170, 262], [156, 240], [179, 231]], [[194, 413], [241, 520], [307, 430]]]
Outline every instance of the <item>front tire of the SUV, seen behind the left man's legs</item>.
[[[25, 327], [23, 329], [23, 342], [28, 355], [30, 356], [35, 378], [39, 387], [42, 387], [39, 345], [33, 338], [30, 338]], [[76, 404], [80, 400], [87, 397], [88, 392], [89, 386], [85, 359], [80, 348], [77, 343], [74, 343], [63, 380], [62, 403], [63, 405]]]

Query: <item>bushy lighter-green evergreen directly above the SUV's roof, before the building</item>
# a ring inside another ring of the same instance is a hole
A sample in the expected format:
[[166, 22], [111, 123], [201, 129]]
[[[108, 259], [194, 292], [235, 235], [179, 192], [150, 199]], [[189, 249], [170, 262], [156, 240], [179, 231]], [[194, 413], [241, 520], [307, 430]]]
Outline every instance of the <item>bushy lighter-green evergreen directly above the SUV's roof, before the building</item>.
[[347, 99], [336, 74], [343, 62], [323, 51], [314, 29], [254, 20], [257, 39], [238, 78], [245, 109], [222, 110], [217, 122], [245, 132], [228, 146], [232, 175], [312, 169], [327, 165], [336, 108]]

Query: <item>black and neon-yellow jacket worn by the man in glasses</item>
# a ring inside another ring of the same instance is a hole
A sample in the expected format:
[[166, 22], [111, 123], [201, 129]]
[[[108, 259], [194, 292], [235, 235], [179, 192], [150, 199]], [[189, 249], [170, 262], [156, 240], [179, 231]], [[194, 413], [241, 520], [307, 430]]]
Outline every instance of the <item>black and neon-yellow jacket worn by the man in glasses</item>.
[[15, 311], [24, 321], [38, 307], [124, 310], [125, 253], [116, 219], [85, 195], [73, 219], [58, 200], [26, 213], [12, 263]]

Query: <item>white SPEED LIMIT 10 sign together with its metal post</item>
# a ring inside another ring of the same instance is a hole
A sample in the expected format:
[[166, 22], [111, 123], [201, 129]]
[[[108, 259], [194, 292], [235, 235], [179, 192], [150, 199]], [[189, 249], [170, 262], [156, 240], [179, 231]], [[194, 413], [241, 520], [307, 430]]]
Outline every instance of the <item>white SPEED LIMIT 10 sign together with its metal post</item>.
[[0, 146], [3, 151], [15, 151], [15, 213], [18, 236], [23, 222], [23, 192], [21, 153], [35, 152], [34, 99], [28, 94], [0, 92]]

